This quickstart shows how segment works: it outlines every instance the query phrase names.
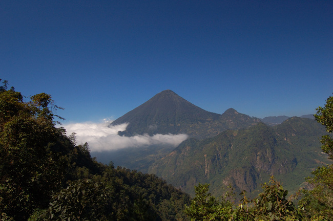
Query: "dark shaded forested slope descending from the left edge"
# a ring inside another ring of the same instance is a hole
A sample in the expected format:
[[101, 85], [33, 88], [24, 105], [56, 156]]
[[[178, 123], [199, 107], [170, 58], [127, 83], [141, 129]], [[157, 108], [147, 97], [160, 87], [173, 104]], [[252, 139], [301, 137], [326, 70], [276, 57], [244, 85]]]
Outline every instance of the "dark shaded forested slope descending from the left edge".
[[45, 93], [25, 102], [7, 81], [0, 87], [0, 220], [188, 220], [188, 194], [98, 163], [55, 127], [56, 109]]

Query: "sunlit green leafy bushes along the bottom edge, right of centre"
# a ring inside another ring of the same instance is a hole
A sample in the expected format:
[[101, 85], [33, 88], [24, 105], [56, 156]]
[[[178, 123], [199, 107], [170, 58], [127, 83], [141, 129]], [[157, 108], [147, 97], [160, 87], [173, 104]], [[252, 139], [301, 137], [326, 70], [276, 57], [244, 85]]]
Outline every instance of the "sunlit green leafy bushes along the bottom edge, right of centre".
[[292, 198], [286, 198], [287, 191], [272, 177], [268, 184], [262, 185], [262, 192], [253, 200], [248, 200], [246, 192], [236, 205], [232, 192], [218, 201], [209, 193], [209, 184], [195, 187], [196, 196], [186, 207], [191, 220], [300, 220], [299, 209]]

